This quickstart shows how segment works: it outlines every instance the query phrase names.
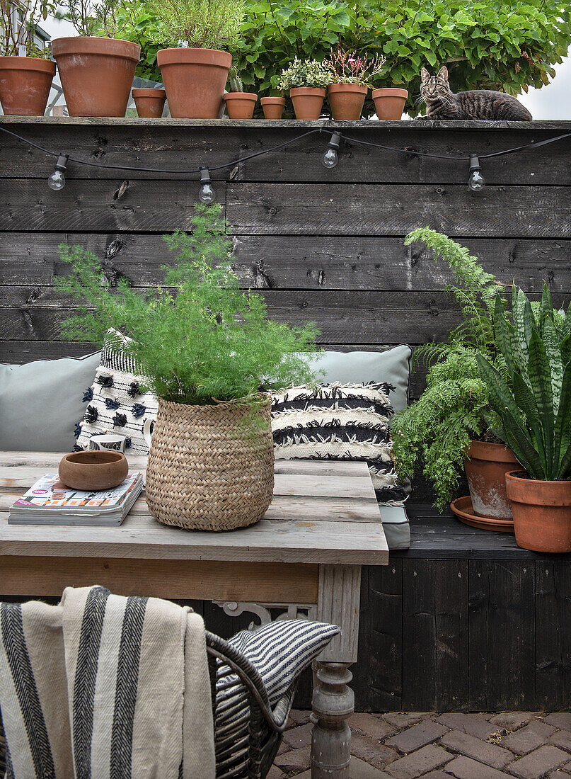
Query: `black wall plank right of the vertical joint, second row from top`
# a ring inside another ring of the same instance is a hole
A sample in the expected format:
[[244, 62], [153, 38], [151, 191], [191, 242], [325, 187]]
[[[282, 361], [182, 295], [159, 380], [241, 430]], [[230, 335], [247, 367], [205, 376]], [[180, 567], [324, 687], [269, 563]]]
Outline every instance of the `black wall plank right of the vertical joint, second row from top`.
[[451, 236], [571, 238], [566, 187], [236, 184], [229, 230], [249, 234], [401, 235], [429, 225]]

